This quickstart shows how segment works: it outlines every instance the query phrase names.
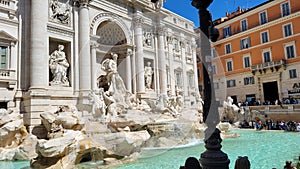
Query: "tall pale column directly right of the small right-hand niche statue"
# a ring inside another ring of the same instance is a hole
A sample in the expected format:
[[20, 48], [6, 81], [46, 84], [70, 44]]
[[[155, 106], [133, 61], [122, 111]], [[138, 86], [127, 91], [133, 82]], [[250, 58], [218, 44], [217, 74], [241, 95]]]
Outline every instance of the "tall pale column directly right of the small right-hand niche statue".
[[165, 56], [165, 29], [163, 26], [158, 27], [158, 72], [159, 88], [161, 94], [167, 94], [167, 71]]

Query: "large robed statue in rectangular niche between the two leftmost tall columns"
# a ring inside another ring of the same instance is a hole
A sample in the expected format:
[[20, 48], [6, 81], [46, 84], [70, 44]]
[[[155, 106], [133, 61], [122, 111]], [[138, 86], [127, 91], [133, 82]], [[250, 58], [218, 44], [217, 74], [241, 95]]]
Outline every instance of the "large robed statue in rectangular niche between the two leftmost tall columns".
[[49, 68], [52, 73], [52, 81], [50, 82], [50, 85], [69, 86], [69, 80], [67, 77], [69, 63], [63, 50], [64, 45], [58, 45], [58, 50], [55, 50], [50, 55]]

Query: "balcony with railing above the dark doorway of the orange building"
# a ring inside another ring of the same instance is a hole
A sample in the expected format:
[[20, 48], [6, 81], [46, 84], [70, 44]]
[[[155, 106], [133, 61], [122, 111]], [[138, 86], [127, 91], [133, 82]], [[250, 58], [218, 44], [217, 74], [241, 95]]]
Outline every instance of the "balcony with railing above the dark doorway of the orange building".
[[280, 68], [285, 69], [285, 60], [277, 60], [272, 62], [266, 62], [258, 65], [251, 66], [251, 72], [255, 74], [256, 71], [260, 72], [262, 74], [263, 72], [266, 73], [268, 69], [273, 71], [278, 71]]

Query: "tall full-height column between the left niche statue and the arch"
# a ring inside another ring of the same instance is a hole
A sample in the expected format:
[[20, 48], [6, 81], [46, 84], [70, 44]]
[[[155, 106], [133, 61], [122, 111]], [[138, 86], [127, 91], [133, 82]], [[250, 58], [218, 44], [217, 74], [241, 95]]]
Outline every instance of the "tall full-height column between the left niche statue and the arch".
[[76, 0], [79, 4], [79, 89], [91, 90], [91, 56], [89, 34], [89, 3], [91, 0]]

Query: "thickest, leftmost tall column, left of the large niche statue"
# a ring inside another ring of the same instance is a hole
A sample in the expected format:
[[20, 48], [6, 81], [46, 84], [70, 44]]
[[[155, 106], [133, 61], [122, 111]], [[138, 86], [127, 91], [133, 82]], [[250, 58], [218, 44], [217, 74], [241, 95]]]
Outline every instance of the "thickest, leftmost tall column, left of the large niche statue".
[[48, 0], [31, 0], [30, 88], [48, 86]]

